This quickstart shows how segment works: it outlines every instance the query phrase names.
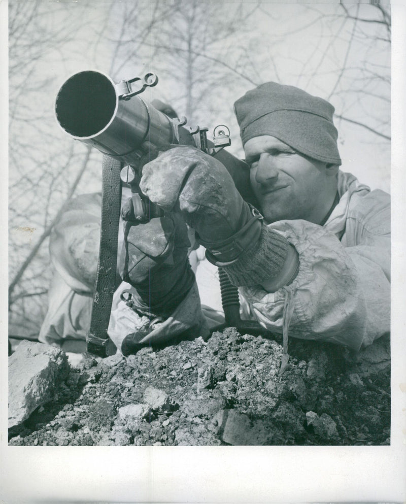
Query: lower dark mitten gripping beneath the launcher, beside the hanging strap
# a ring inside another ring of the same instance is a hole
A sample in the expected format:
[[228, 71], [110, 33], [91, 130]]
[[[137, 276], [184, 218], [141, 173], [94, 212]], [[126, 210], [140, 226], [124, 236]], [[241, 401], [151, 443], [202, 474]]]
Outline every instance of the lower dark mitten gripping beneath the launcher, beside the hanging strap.
[[[124, 216], [131, 215], [131, 206], [128, 199]], [[165, 318], [184, 299], [194, 283], [189, 245], [180, 215], [168, 213], [147, 223], [126, 222], [119, 273], [136, 288], [138, 297], [132, 301], [139, 313]]]

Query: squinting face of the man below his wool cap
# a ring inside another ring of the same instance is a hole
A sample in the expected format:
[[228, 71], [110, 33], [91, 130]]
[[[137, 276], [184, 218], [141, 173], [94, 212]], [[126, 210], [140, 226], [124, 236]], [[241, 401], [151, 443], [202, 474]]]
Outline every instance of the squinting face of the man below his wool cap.
[[299, 154], [269, 135], [248, 140], [244, 151], [252, 189], [268, 222], [322, 221], [335, 194], [326, 163]]

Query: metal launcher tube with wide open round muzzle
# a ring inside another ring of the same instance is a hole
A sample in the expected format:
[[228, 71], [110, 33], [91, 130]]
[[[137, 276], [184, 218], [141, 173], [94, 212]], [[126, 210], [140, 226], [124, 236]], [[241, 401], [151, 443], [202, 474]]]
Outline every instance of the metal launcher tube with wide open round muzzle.
[[[60, 127], [71, 138], [136, 168], [145, 154], [153, 158], [174, 144], [196, 146], [194, 133], [199, 128], [191, 131], [134, 93], [126, 97], [120, 92], [122, 87], [96, 70], [74, 74], [56, 97]], [[209, 141], [208, 146], [213, 143]], [[224, 164], [243, 198], [255, 206], [247, 164], [224, 149], [214, 157]]]

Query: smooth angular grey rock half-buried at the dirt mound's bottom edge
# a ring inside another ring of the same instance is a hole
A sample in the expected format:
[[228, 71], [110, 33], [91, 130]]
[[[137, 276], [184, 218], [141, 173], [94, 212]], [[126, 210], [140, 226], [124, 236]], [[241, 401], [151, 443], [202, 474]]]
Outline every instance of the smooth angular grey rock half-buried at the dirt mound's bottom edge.
[[272, 444], [273, 425], [265, 420], [253, 420], [235, 410], [221, 410], [213, 418], [211, 428], [228, 445]]

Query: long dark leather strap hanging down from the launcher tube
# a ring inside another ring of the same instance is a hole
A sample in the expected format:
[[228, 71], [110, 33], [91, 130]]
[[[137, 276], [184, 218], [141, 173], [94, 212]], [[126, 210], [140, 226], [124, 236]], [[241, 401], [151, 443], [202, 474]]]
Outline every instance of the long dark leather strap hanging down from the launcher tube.
[[116, 285], [118, 228], [121, 207], [121, 162], [103, 156], [100, 246], [87, 351], [106, 357], [107, 328]]

